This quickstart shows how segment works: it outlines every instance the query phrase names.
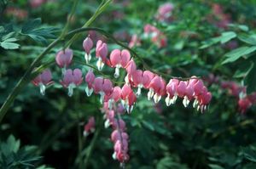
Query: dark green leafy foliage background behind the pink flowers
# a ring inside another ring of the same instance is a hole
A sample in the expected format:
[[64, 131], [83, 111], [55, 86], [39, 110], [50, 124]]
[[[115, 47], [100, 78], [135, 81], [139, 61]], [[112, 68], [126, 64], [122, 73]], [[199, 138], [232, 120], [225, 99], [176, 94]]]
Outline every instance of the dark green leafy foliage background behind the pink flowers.
[[[255, 91], [256, 2], [172, 0], [175, 6], [172, 22], [154, 20], [157, 8], [166, 2], [171, 1], [114, 1], [92, 26], [128, 43], [127, 35], [142, 35], [143, 25], [155, 25], [167, 37], [166, 48], [158, 48], [149, 40], [134, 48], [152, 69], [173, 76], [212, 73], [221, 80], [246, 85], [247, 93]], [[100, 3], [79, 1], [70, 30], [84, 25]], [[227, 28], [207, 21], [208, 16], [214, 17], [213, 3], [220, 4], [224, 13], [230, 14], [232, 24]], [[38, 8], [31, 8], [25, 0], [2, 0], [0, 4], [0, 104], [3, 104], [32, 60], [60, 34], [73, 2], [58, 0]], [[19, 19], [14, 13], [6, 14], [7, 8], [22, 9], [27, 16]], [[116, 13], [121, 17], [115, 18]], [[86, 36], [84, 33], [72, 45], [76, 58], [83, 58], [81, 44]], [[233, 41], [237, 48], [227, 48]], [[110, 48], [117, 47], [113, 42], [108, 43]], [[44, 61], [53, 58], [60, 48], [61, 45], [51, 50]], [[118, 168], [119, 163], [112, 160], [111, 129], [103, 128], [98, 97], [87, 98], [83, 87], [72, 98], [67, 97], [58, 85], [61, 71], [56, 65], [50, 65], [50, 69], [54, 72], [55, 85], [47, 89], [47, 94], [41, 96], [38, 88], [29, 84], [0, 124], [0, 167], [77, 168], [79, 155], [84, 160], [90, 154], [88, 167]], [[86, 69], [83, 70], [85, 73]], [[113, 70], [104, 73], [110, 75]], [[191, 105], [183, 108], [181, 100], [170, 107], [166, 107], [163, 99], [154, 105], [143, 93], [131, 115], [124, 115], [131, 155], [126, 167], [255, 168], [255, 107], [241, 114], [237, 100], [218, 84], [210, 85], [209, 91], [212, 102], [205, 114]], [[95, 144], [92, 144], [94, 134], [86, 140], [81, 138], [80, 123], [90, 115], [96, 116], [96, 130], [100, 130]], [[79, 152], [81, 139], [83, 147]]]

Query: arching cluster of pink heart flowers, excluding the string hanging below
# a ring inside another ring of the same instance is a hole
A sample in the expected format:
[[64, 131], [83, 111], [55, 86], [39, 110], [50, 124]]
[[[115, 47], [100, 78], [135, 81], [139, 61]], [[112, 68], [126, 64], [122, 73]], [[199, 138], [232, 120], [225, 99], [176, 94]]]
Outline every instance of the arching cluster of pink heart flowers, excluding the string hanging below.
[[[85, 61], [90, 63], [90, 50], [93, 48], [93, 41], [90, 37], [84, 39], [83, 48]], [[56, 54], [55, 61], [62, 68], [63, 79], [61, 85], [68, 88], [69, 96], [73, 95], [73, 88], [78, 87], [84, 79], [86, 83], [85, 92], [88, 96], [93, 92], [99, 94], [101, 103], [108, 102], [109, 105], [121, 101], [129, 113], [133, 109], [137, 97], [141, 95], [143, 88], [148, 90], [148, 100], [154, 98], [154, 103], [158, 103], [162, 97], [167, 95], [167, 106], [174, 104], [177, 97], [179, 97], [183, 99], [183, 104], [187, 107], [193, 99], [195, 100], [194, 107], [201, 111], [206, 110], [207, 104], [212, 98], [212, 94], [207, 91], [207, 87], [195, 76], [192, 76], [189, 81], [171, 79], [166, 85], [166, 81], [161, 76], [150, 70], [137, 69], [130, 52], [126, 49], [113, 49], [108, 57], [108, 45], [101, 40], [96, 42], [96, 58], [98, 59], [97, 69], [102, 70], [104, 65], [108, 65], [115, 69], [113, 75], [115, 78], [119, 77], [120, 69], [125, 70], [127, 73], [125, 85], [115, 87], [110, 79], [101, 76], [96, 77], [92, 70], [89, 70], [85, 77], [83, 77], [82, 70], [67, 70], [67, 67], [72, 63], [73, 51], [66, 48]], [[41, 82], [40, 84], [47, 85], [47, 82]], [[133, 88], [137, 88], [137, 93], [134, 93]]]

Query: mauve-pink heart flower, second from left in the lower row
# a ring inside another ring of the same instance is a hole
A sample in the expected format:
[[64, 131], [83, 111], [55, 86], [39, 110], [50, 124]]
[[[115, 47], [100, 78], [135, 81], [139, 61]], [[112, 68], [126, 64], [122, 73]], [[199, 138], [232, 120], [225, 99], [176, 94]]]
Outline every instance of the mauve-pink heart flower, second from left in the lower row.
[[73, 95], [73, 88], [79, 86], [83, 82], [82, 71], [79, 69], [67, 70], [64, 74], [61, 84], [68, 88], [68, 96]]

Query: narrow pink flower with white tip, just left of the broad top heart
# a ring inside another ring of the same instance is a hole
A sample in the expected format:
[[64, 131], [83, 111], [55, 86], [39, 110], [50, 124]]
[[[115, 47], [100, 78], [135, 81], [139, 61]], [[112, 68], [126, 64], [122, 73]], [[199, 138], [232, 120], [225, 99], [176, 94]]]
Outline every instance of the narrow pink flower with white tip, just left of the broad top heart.
[[98, 58], [96, 65], [98, 70], [102, 70], [103, 66], [105, 65], [104, 63], [107, 61], [107, 55], [108, 45], [105, 42], [99, 40], [96, 43], [96, 57]]

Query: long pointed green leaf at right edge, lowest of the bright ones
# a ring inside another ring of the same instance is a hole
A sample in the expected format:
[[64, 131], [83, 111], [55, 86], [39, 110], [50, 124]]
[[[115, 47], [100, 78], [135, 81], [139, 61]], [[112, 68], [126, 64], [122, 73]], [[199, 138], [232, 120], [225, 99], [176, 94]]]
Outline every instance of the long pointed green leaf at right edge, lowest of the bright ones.
[[241, 48], [236, 48], [235, 50], [225, 54], [228, 59], [225, 59], [222, 64], [234, 62], [237, 59], [240, 59], [241, 56], [244, 56], [246, 54], [251, 54], [256, 50], [256, 46], [253, 47], [241, 47]]

